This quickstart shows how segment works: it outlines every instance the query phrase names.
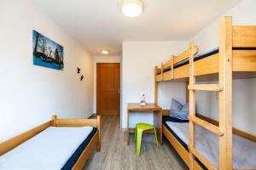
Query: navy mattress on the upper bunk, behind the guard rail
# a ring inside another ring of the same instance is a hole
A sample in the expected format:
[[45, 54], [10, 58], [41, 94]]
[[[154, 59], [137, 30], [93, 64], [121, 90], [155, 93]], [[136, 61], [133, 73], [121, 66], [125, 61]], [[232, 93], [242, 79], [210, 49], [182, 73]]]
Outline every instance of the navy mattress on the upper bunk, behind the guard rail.
[[[256, 50], [256, 48], [233, 48], [233, 50]], [[211, 50], [207, 51], [206, 53], [195, 55], [194, 61], [207, 58], [213, 54], [218, 54], [218, 48], [212, 48]], [[188, 65], [188, 64], [189, 64], [189, 59], [183, 59], [182, 61], [177, 62], [175, 65], [173, 65], [173, 68], [177, 69], [178, 67], [181, 67], [183, 65]], [[171, 71], [171, 70], [172, 70], [171, 67], [167, 67], [166, 69], [163, 70], [163, 72]], [[158, 74], [160, 74], [160, 73], [158, 73]]]

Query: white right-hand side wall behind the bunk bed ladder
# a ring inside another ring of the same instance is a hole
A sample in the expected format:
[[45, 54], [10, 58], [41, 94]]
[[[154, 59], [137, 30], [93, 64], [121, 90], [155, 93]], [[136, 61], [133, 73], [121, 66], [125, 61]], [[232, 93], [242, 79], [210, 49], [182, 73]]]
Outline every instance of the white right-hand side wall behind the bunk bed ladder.
[[[234, 25], [256, 25], [256, 1], [243, 0], [223, 16], [232, 16]], [[220, 16], [219, 19], [223, 16]], [[191, 38], [200, 52], [218, 47], [218, 20]], [[233, 81], [233, 126], [256, 135], [256, 79]], [[198, 93], [197, 110], [218, 119], [218, 95]]]

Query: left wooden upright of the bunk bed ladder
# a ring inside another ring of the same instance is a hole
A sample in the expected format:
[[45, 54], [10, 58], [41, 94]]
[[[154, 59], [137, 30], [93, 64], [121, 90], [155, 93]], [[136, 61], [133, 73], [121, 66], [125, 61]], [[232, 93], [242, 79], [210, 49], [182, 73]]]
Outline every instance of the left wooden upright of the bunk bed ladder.
[[[189, 42], [189, 85], [195, 85], [194, 43]], [[189, 90], [189, 116], [195, 116], [195, 90]], [[195, 122], [189, 121], [189, 145], [195, 148]], [[194, 169], [195, 156], [189, 150], [189, 169]]]

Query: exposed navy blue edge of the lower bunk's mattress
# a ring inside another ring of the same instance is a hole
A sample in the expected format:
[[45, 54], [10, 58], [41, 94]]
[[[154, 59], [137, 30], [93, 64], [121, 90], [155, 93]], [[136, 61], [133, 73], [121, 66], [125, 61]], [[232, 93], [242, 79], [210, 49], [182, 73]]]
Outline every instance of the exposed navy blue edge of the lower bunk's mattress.
[[[177, 139], [177, 141], [178, 141], [180, 144], [182, 144], [183, 147], [184, 147], [187, 151], [189, 151], [189, 146], [188, 146], [188, 144], [184, 143], [183, 140], [180, 139], [180, 138], [177, 136], [177, 134], [174, 133], [174, 132], [172, 131], [172, 129], [166, 124], [166, 122], [188, 123], [189, 121], [188, 121], [188, 120], [177, 119], [177, 118], [172, 117], [172, 116], [163, 116], [162, 122], [163, 122], [163, 125], [164, 125], [164, 126], [172, 133], [172, 135]], [[201, 167], [202, 167], [203, 169], [207, 169], [207, 167], [205, 167], [205, 166], [201, 163], [201, 161], [199, 161], [196, 157], [195, 157], [195, 161], [197, 161], [197, 162], [201, 165]]]

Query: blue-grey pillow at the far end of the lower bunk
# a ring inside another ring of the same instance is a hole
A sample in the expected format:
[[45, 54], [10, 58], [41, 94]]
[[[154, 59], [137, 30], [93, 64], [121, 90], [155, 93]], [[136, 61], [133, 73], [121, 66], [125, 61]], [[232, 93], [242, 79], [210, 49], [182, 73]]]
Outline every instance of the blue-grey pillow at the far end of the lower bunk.
[[189, 103], [182, 105], [176, 99], [172, 99], [171, 115], [177, 119], [188, 120], [189, 115]]

